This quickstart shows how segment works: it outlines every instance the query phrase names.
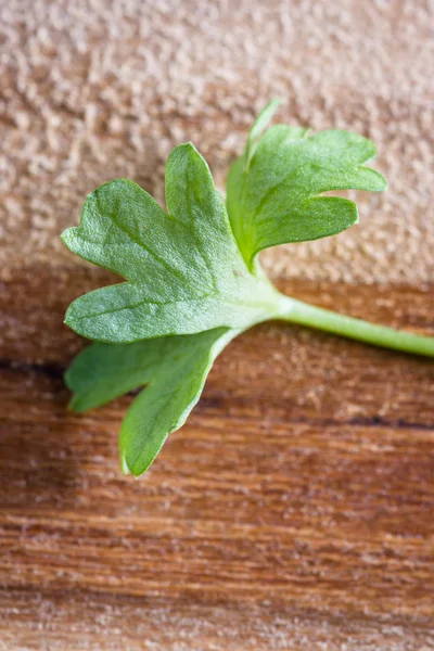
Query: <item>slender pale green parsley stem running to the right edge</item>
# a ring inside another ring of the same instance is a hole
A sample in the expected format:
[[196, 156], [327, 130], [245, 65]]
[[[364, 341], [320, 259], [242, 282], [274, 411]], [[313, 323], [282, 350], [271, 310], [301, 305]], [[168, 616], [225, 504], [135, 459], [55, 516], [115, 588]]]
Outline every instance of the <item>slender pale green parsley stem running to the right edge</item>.
[[374, 346], [434, 357], [434, 337], [431, 336], [375, 326], [362, 319], [339, 315], [289, 296], [281, 295], [280, 306], [281, 310], [279, 310], [277, 318], [284, 321], [309, 326], [333, 334], [367, 342]]

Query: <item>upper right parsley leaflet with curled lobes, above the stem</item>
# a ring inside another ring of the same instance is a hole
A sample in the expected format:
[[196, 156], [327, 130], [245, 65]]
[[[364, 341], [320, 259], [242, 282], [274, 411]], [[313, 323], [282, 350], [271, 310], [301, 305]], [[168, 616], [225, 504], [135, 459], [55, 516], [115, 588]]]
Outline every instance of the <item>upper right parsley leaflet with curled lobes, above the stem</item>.
[[[269, 105], [270, 106], [270, 105]], [[268, 107], [266, 107], [267, 111]], [[259, 116], [260, 128], [264, 118]], [[257, 123], [251, 135], [255, 139]], [[384, 190], [384, 178], [362, 164], [375, 155], [373, 143], [348, 131], [314, 136], [301, 127], [277, 125], [248, 144], [228, 177], [227, 207], [243, 257], [269, 246], [336, 234], [358, 220], [357, 206], [330, 190]]]

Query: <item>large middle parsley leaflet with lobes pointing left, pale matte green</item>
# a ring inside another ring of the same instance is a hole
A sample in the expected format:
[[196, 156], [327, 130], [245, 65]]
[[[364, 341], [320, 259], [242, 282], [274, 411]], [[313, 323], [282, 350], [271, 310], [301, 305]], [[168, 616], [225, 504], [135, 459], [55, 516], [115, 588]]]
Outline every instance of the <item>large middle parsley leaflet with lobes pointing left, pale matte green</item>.
[[266, 318], [276, 292], [254, 278], [233, 238], [224, 201], [192, 144], [166, 166], [168, 214], [124, 179], [90, 194], [81, 222], [62, 234], [82, 258], [128, 282], [77, 298], [65, 322], [103, 342], [128, 343]]

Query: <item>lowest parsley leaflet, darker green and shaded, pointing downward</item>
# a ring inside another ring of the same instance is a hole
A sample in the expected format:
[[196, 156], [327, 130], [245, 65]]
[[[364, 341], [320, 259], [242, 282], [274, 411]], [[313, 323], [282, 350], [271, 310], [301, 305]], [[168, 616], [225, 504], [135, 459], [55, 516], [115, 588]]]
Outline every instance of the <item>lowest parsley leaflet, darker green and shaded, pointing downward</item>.
[[237, 334], [218, 328], [135, 344], [92, 344], [65, 374], [75, 394], [71, 407], [85, 411], [146, 385], [120, 430], [123, 467], [138, 476], [151, 465], [168, 434], [183, 425], [213, 361]]

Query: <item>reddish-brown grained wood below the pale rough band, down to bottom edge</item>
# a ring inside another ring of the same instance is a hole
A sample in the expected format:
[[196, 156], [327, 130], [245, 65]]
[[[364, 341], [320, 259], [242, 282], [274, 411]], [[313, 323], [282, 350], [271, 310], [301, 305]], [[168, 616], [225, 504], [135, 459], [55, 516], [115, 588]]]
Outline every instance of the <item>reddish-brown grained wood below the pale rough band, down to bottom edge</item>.
[[[64, 309], [107, 278], [1, 288], [0, 649], [434, 649], [434, 363], [256, 328], [136, 481], [131, 396], [76, 416], [62, 383]], [[281, 289], [434, 334], [432, 288]]]

